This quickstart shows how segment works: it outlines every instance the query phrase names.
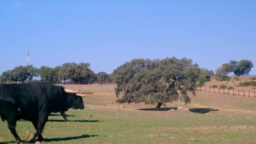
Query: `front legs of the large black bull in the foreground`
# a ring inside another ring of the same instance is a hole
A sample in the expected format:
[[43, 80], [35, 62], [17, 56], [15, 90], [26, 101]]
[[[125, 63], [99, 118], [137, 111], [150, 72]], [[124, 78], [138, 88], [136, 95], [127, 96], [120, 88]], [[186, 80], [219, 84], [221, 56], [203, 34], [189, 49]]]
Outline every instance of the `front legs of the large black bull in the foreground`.
[[28, 138], [27, 142], [33, 140], [34, 138], [36, 138], [38, 136], [38, 140], [43, 140], [43, 137], [41, 135], [41, 133], [43, 132], [43, 127], [45, 126], [46, 121], [48, 120], [48, 113], [43, 113], [40, 114], [37, 120], [37, 128], [36, 128], [36, 133], [33, 135], [30, 135], [30, 137]]

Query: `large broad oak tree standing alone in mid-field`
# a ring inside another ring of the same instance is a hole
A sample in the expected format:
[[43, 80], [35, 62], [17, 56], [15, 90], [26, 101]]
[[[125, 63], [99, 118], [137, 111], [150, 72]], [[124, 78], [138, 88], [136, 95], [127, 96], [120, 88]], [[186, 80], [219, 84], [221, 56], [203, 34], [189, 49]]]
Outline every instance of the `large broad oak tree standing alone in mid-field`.
[[189, 103], [188, 91], [195, 95], [199, 74], [191, 59], [133, 59], [113, 71], [117, 101], [157, 104], [156, 110], [179, 98]]

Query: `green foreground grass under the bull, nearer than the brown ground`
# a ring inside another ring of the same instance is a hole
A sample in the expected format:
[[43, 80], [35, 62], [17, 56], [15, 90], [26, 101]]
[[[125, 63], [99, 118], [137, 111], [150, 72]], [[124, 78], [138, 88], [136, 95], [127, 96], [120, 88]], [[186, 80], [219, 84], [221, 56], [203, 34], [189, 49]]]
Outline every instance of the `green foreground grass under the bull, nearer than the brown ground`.
[[[228, 144], [249, 143], [256, 134], [252, 125], [255, 116], [223, 116], [199, 113], [166, 113], [165, 118], [150, 113], [126, 112], [118, 110], [70, 110], [69, 120], [79, 122], [64, 123], [61, 116], [50, 116], [43, 137], [46, 144]], [[116, 115], [118, 113], [118, 115]], [[159, 112], [155, 112], [159, 113]], [[73, 116], [74, 115], [74, 116]], [[250, 118], [250, 119], [248, 119]], [[56, 122], [55, 122], [56, 121]], [[247, 125], [245, 129], [233, 126]], [[203, 128], [207, 126], [207, 128]], [[218, 128], [217, 126], [225, 126]], [[9, 142], [14, 138], [7, 129], [7, 123], [0, 123], [0, 141]], [[17, 123], [17, 131], [26, 139], [34, 128], [30, 122]], [[34, 142], [34, 141], [33, 141]]]

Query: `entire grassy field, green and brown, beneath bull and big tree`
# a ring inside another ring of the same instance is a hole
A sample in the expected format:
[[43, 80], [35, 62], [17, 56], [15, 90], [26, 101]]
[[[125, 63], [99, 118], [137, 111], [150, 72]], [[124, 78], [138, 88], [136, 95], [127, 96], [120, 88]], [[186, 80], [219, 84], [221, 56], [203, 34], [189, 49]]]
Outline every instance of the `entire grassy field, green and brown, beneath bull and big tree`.
[[[153, 111], [155, 105], [116, 104], [114, 87], [67, 85], [94, 94], [84, 99], [85, 109], [67, 111], [70, 123], [51, 114], [42, 144], [256, 143], [256, 98], [198, 92], [191, 104], [177, 102]], [[170, 111], [179, 106], [190, 112]], [[35, 131], [27, 121], [17, 122], [16, 130], [22, 140]], [[6, 121], [0, 122], [0, 144], [14, 140]]]

